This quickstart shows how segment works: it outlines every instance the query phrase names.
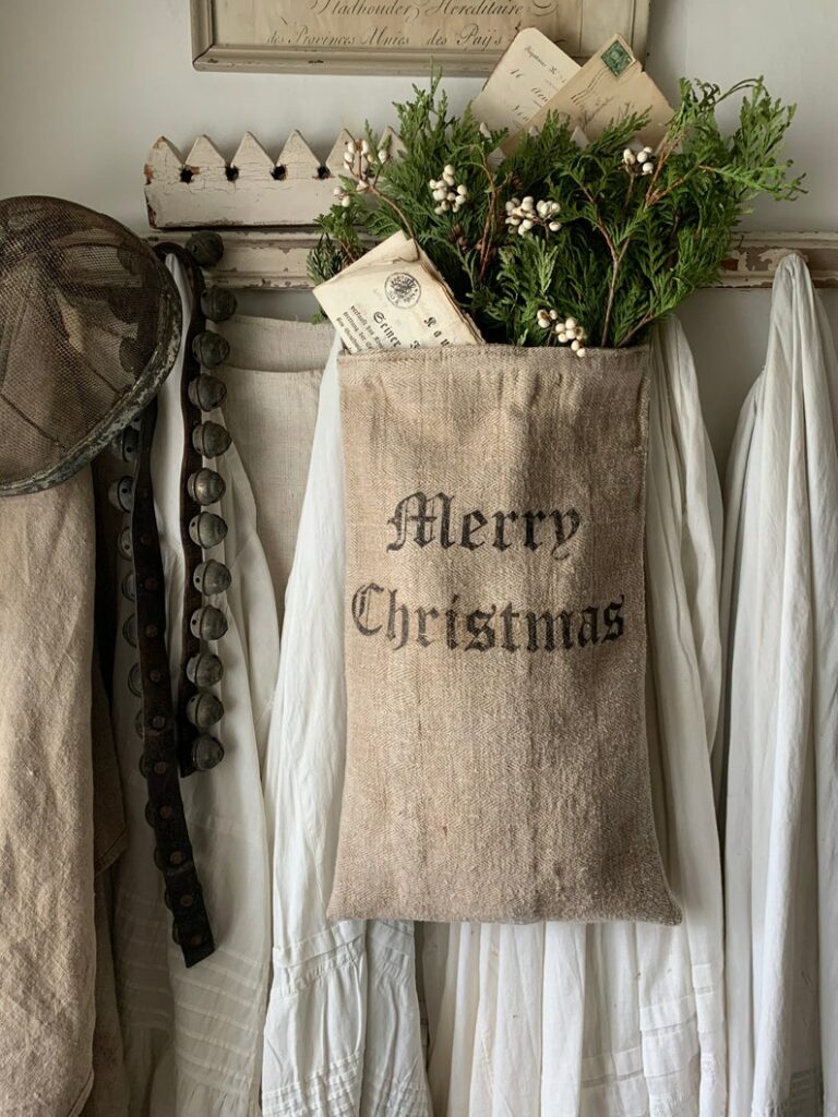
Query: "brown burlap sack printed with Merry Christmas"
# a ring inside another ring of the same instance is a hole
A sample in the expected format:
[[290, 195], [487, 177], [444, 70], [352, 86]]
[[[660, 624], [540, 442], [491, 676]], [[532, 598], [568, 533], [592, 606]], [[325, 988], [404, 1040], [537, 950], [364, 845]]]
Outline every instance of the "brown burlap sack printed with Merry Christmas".
[[645, 727], [647, 362], [341, 359], [332, 917], [679, 922]]

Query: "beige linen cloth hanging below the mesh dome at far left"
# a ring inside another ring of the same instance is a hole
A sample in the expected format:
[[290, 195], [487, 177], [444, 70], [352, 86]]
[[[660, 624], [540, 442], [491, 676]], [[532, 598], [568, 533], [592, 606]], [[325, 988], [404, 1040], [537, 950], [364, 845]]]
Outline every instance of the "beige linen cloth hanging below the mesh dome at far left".
[[[92, 733], [94, 690], [96, 724], [106, 726], [92, 682], [94, 562], [89, 470], [0, 502], [2, 1117], [72, 1117], [94, 1078], [94, 875], [122, 842], [107, 729]], [[94, 795], [104, 809], [97, 834]], [[103, 907], [103, 929], [104, 920]], [[104, 961], [104, 935], [101, 946]], [[107, 1003], [105, 964], [99, 995]], [[104, 1015], [96, 1047], [118, 1081], [117, 1033]], [[118, 1113], [117, 1100], [118, 1091], [96, 1114]]]

